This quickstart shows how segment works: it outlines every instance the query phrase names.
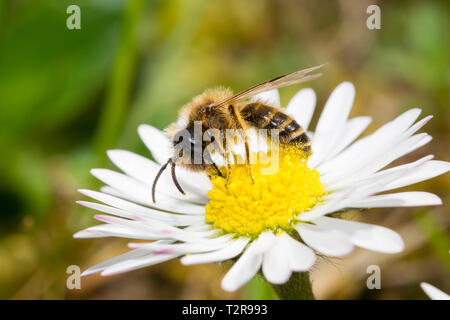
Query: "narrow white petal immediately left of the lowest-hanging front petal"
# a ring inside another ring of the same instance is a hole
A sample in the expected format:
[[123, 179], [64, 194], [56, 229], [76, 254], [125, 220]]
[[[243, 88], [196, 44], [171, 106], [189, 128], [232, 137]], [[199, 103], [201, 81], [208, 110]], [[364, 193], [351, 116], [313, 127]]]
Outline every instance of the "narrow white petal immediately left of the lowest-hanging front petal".
[[250, 239], [248, 238], [238, 238], [228, 243], [226, 247], [213, 252], [186, 255], [181, 258], [181, 263], [184, 265], [191, 265], [232, 259], [244, 250], [249, 240]]

